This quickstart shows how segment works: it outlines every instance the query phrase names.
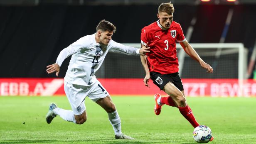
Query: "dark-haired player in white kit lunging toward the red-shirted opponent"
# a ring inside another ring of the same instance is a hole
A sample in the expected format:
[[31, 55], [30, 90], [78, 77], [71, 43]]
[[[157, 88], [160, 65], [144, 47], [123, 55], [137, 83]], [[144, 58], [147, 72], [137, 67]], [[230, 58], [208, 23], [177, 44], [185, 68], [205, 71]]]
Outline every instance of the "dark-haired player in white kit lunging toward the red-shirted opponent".
[[62, 119], [83, 124], [86, 122], [86, 107], [84, 100], [88, 96], [108, 113], [116, 139], [134, 139], [121, 132], [121, 120], [107, 90], [96, 79], [95, 72], [100, 68], [108, 51], [118, 51], [129, 55], [144, 55], [149, 48], [144, 46], [137, 49], [124, 46], [112, 40], [116, 27], [106, 20], [99, 22], [95, 34], [87, 35], [63, 49], [57, 57], [56, 63], [47, 66], [47, 73], [56, 72], [64, 59], [72, 55], [69, 67], [64, 77], [64, 90], [72, 110], [64, 110], [52, 103], [46, 115], [47, 123], [59, 115]]

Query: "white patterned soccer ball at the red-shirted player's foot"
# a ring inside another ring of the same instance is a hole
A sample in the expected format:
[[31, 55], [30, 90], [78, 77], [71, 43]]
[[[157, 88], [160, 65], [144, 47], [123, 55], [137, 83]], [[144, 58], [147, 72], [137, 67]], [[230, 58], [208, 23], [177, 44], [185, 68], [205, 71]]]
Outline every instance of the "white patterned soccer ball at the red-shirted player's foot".
[[200, 125], [194, 128], [193, 138], [196, 142], [207, 143], [212, 138], [212, 131], [206, 125]]

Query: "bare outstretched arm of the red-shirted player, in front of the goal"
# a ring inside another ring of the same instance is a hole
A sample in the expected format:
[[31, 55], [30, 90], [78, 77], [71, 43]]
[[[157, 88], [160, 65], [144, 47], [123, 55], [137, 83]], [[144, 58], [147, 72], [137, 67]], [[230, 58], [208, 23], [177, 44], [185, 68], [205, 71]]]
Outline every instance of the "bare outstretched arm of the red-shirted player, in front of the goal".
[[197, 52], [194, 50], [194, 48], [187, 42], [183, 41], [180, 43], [184, 51], [194, 60], [198, 61], [202, 68], [207, 69], [207, 73], [213, 73], [212, 66], [210, 66], [208, 63], [204, 62], [200, 56], [197, 54]]

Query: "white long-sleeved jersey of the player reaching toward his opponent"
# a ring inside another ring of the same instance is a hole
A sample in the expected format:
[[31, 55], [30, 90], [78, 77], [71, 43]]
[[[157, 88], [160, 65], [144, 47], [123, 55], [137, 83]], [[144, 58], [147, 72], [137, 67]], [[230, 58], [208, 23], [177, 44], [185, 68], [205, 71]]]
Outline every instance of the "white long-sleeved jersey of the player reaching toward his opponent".
[[94, 74], [100, 68], [109, 50], [130, 55], [139, 54], [139, 49], [119, 44], [112, 39], [107, 46], [98, 44], [95, 34], [92, 34], [81, 37], [63, 49], [56, 63], [61, 66], [64, 59], [72, 55], [64, 80], [76, 85], [91, 86], [96, 83]]

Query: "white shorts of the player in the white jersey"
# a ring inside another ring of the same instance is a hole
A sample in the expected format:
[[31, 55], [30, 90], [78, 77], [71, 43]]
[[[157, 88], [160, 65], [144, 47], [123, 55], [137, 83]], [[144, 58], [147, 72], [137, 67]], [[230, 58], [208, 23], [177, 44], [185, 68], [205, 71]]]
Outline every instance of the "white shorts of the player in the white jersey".
[[89, 87], [64, 82], [64, 90], [75, 115], [81, 115], [86, 110], [84, 105], [86, 96], [96, 102], [100, 98], [105, 98], [109, 95], [98, 80]]

